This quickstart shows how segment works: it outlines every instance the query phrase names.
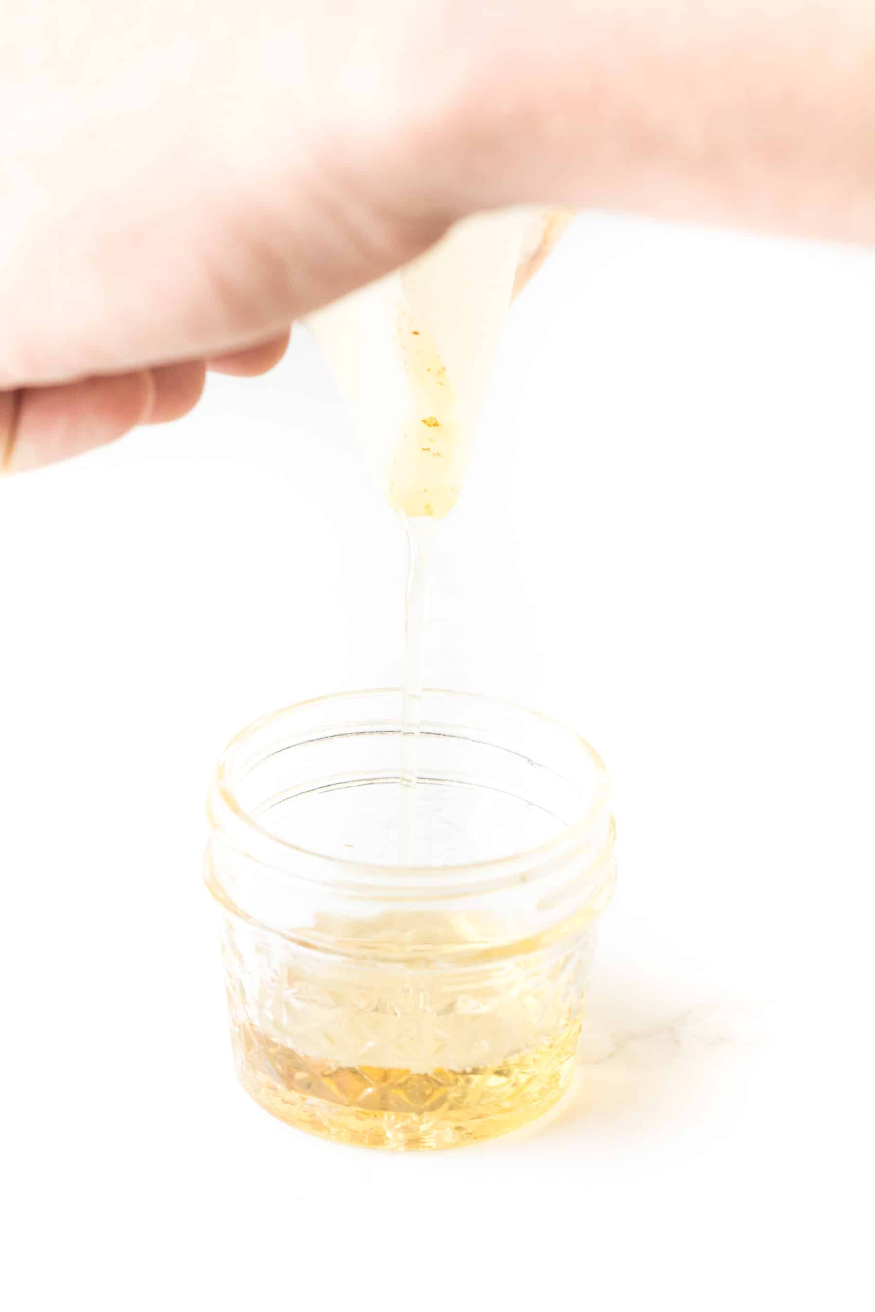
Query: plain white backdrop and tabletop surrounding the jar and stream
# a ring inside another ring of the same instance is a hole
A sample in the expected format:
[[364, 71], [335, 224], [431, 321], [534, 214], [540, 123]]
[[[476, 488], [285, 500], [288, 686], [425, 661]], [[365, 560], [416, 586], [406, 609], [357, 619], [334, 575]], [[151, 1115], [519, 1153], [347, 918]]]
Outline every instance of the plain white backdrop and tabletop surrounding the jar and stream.
[[401, 659], [310, 344], [0, 485], [10, 1308], [866, 1304], [874, 307], [871, 255], [589, 218], [514, 311], [426, 677], [592, 739], [621, 882], [575, 1097], [474, 1149], [231, 1071], [211, 764]]

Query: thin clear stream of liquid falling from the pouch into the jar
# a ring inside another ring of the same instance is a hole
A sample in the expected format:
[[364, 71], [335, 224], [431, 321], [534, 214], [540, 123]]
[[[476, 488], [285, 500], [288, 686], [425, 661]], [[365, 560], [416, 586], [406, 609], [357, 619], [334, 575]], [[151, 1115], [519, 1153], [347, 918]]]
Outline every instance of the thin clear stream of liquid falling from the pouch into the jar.
[[[424, 516], [401, 514], [407, 534], [407, 589], [404, 593], [404, 697], [401, 702], [400, 813], [397, 862], [409, 866], [416, 845], [416, 782], [422, 722], [422, 619], [428, 569], [437, 523]], [[425, 857], [422, 857], [425, 862]], [[417, 861], [417, 863], [420, 863]]]

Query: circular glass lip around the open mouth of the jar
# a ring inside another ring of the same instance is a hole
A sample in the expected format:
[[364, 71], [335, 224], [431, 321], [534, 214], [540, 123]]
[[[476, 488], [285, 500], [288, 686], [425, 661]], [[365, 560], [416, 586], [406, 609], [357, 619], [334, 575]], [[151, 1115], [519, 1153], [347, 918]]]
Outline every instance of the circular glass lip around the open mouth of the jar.
[[[367, 689], [363, 691], [333, 693], [323, 697], [310, 698], [291, 706], [273, 711], [241, 729], [226, 747], [222, 753], [214, 783], [207, 800], [207, 815], [214, 830], [223, 833], [223, 840], [239, 853], [251, 855], [260, 865], [270, 866], [274, 870], [285, 870], [296, 879], [311, 879], [319, 883], [329, 882], [332, 887], [348, 886], [359, 893], [366, 886], [373, 884], [380, 896], [387, 892], [401, 892], [403, 890], [418, 890], [420, 892], [439, 890], [443, 895], [464, 892], [481, 892], [495, 890], [505, 882], [530, 879], [538, 871], [552, 870], [556, 862], [567, 862], [580, 850], [581, 857], [588, 851], [597, 858], [605, 851], [603, 838], [606, 829], [613, 833], [613, 823], [607, 810], [609, 783], [607, 771], [598, 753], [590, 744], [573, 729], [538, 711], [519, 707], [513, 702], [501, 701], [479, 693], [458, 693], [449, 689], [426, 689], [422, 693], [422, 706], [428, 702], [445, 703], [451, 706], [454, 712], [471, 707], [475, 716], [509, 715], [516, 718], [538, 733], [551, 736], [567, 753], [572, 770], [577, 768], [580, 774], [586, 774], [588, 789], [585, 800], [581, 799], [577, 815], [569, 820], [563, 820], [559, 832], [543, 842], [523, 846], [504, 855], [487, 857], [474, 861], [450, 861], [447, 863], [411, 863], [399, 865], [390, 861], [362, 861], [357, 857], [345, 857], [337, 853], [319, 850], [317, 846], [308, 846], [287, 837], [283, 837], [268, 825], [257, 815], [253, 815], [248, 806], [240, 799], [240, 783], [252, 765], [270, 754], [282, 752], [289, 745], [307, 744], [306, 736], [289, 744], [283, 741], [279, 732], [283, 726], [299, 728], [299, 722], [306, 722], [308, 715], [314, 720], [312, 735], [317, 740], [325, 733], [353, 735], [362, 729], [362, 722], [344, 722], [344, 708], [358, 702], [359, 706], [374, 703], [395, 705], [400, 707], [401, 691], [399, 689]], [[325, 712], [337, 708], [338, 719], [324, 719]], [[447, 720], [447, 728], [455, 726], [457, 715]], [[424, 731], [428, 724], [428, 715], [424, 714]], [[400, 724], [395, 718], [394, 729], [400, 740]], [[253, 744], [261, 744], [260, 752], [253, 756]], [[526, 760], [525, 753], [514, 747], [502, 744], [502, 750], [512, 752]], [[537, 761], [527, 761], [538, 766]], [[571, 781], [569, 787], [575, 795], [579, 790]], [[607, 844], [610, 848], [610, 842]], [[596, 862], [598, 863], [598, 862]], [[610, 863], [610, 862], [609, 862]]]

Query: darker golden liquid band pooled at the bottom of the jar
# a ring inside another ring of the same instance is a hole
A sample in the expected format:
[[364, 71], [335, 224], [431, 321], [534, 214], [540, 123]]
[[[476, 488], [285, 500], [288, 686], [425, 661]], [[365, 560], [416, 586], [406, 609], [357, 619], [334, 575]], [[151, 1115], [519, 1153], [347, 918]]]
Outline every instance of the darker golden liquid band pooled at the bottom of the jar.
[[369, 1148], [453, 1148], [508, 1134], [571, 1084], [580, 1018], [489, 1067], [413, 1072], [312, 1061], [249, 1025], [235, 1029], [237, 1075], [256, 1102], [310, 1134]]

